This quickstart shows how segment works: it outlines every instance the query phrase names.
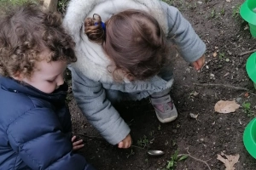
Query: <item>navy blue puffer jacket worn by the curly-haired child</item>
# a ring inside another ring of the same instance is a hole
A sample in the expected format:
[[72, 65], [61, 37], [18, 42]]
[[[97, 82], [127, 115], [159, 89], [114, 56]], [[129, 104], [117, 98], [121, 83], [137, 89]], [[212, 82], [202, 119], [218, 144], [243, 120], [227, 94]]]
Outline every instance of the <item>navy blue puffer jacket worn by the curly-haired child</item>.
[[0, 77], [0, 169], [92, 170], [73, 153], [67, 85], [44, 94]]

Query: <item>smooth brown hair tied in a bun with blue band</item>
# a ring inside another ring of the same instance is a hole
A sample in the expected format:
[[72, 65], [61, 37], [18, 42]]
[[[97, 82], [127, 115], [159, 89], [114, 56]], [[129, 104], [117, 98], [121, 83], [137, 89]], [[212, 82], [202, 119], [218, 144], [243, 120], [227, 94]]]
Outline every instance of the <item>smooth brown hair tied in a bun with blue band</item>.
[[113, 60], [113, 77], [117, 71], [125, 72], [131, 80], [145, 80], [170, 65], [172, 56], [177, 54], [176, 47], [167, 42], [158, 21], [141, 10], [114, 14], [105, 23], [106, 32], [97, 24], [101, 22], [98, 14], [86, 18], [84, 32], [90, 41], [101, 43]]

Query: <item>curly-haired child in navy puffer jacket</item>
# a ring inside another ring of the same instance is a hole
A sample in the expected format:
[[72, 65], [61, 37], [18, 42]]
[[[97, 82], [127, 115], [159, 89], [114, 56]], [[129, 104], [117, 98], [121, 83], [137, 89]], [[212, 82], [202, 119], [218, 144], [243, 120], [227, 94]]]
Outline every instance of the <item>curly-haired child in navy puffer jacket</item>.
[[73, 152], [63, 76], [77, 58], [61, 15], [28, 3], [0, 26], [0, 169], [94, 169]]

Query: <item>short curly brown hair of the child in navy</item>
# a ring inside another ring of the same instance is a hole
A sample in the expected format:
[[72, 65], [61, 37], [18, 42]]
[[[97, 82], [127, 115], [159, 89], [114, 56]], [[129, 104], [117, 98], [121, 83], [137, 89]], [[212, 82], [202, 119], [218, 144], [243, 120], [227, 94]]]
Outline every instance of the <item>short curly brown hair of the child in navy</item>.
[[0, 16], [0, 75], [31, 77], [36, 62], [77, 60], [75, 43], [61, 26], [61, 14], [43, 11], [38, 5], [27, 3], [12, 7]]

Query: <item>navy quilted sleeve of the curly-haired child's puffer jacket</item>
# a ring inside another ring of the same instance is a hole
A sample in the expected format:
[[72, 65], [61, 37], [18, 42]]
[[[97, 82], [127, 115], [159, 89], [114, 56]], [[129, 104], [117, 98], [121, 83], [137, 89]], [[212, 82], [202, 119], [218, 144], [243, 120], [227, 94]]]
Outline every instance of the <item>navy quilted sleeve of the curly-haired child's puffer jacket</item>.
[[94, 170], [83, 156], [73, 153], [71, 139], [48, 108], [27, 111], [9, 124], [7, 133], [12, 149], [34, 170]]

